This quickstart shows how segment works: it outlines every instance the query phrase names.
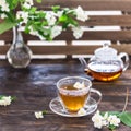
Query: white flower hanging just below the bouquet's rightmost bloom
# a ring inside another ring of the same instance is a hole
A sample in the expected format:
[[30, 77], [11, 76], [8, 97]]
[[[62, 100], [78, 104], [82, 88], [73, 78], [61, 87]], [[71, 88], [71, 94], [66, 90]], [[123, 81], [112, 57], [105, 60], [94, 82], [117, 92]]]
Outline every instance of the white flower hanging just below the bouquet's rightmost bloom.
[[72, 27], [72, 31], [73, 31], [73, 36], [74, 36], [76, 39], [79, 39], [79, 38], [82, 37], [83, 31], [82, 31], [82, 28], [81, 28], [80, 26], [78, 26], [78, 27]]

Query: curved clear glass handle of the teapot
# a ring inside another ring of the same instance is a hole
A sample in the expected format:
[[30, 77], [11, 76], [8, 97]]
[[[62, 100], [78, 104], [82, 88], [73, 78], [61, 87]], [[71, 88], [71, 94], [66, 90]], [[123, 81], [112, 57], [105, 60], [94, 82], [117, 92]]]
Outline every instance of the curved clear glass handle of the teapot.
[[[118, 57], [123, 61], [123, 71], [126, 71], [127, 70], [127, 68], [129, 67], [129, 56], [128, 56], [128, 53], [126, 53], [126, 52], [120, 52], [119, 55], [118, 55]], [[122, 58], [124, 58], [124, 60], [122, 59]]]

